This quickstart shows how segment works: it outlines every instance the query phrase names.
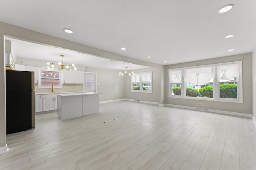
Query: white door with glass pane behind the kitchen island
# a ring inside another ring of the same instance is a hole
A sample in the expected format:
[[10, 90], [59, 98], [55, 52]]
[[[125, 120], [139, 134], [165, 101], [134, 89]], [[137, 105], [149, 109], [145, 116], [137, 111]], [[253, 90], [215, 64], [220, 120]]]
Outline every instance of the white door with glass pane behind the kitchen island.
[[96, 73], [84, 73], [84, 92], [96, 92]]

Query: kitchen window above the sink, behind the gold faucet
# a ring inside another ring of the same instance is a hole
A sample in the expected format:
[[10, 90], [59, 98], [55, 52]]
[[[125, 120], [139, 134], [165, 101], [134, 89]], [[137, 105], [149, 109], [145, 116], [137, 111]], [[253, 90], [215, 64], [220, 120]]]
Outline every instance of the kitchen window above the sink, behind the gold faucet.
[[62, 88], [60, 83], [60, 71], [51, 69], [40, 69], [39, 88]]

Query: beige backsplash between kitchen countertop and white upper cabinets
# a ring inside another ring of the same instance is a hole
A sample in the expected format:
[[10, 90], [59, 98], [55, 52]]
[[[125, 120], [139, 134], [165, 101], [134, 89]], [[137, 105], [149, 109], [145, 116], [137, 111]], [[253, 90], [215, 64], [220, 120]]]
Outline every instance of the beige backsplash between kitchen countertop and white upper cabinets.
[[[53, 90], [54, 92], [82, 92], [83, 84], [62, 84], [62, 88], [53, 87]], [[52, 88], [38, 88], [38, 84], [35, 84], [35, 94], [49, 92], [52, 92]]]

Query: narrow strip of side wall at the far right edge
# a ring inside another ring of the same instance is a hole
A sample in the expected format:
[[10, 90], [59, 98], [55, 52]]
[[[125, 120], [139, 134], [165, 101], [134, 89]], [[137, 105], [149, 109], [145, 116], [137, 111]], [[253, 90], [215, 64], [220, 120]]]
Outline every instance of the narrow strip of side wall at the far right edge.
[[256, 47], [252, 52], [252, 111], [256, 119]]

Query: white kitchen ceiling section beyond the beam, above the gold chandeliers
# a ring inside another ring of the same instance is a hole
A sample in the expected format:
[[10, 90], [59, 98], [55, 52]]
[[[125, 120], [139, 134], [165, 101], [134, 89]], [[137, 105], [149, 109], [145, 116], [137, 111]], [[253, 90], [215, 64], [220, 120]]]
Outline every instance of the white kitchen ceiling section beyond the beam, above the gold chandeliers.
[[[128, 70], [148, 68], [148, 66], [126, 63], [122, 61], [113, 61], [109, 59], [104, 59], [102, 57], [78, 53], [77, 51], [62, 49], [60, 47], [57, 48], [49, 45], [41, 45], [13, 38], [6, 39], [12, 41], [12, 53], [14, 53], [16, 57], [20, 58], [36, 59], [48, 61], [49, 63], [54, 62], [57, 64], [58, 62], [61, 62], [62, 58], [60, 57], [60, 55], [64, 55], [64, 64], [75, 64], [86, 67], [105, 68], [123, 71], [126, 70], [126, 66], [128, 67]], [[45, 62], [45, 67], [48, 66], [46, 63], [47, 62]]]

